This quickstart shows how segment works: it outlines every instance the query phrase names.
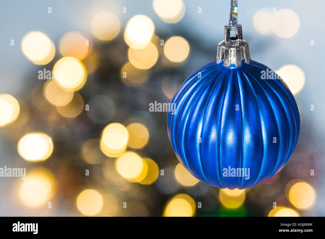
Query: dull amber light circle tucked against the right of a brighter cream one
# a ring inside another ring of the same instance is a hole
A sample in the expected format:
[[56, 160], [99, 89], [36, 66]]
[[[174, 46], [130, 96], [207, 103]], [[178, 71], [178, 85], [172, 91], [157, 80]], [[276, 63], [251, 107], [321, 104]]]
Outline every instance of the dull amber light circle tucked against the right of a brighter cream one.
[[149, 140], [148, 129], [139, 123], [133, 123], [126, 127], [129, 132], [129, 140], [127, 145], [134, 149], [142, 149], [146, 146]]

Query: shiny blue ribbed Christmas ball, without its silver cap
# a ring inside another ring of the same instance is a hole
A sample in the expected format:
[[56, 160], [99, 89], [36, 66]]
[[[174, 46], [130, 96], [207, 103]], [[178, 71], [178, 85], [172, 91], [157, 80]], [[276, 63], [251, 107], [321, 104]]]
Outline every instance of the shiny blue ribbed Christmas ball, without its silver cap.
[[[175, 114], [168, 113], [168, 136], [179, 161], [197, 179], [218, 188], [252, 188], [291, 157], [299, 110], [281, 79], [261, 79], [267, 68], [253, 60], [232, 69], [213, 61], [178, 89]], [[250, 178], [224, 177], [229, 166], [249, 168]]]

